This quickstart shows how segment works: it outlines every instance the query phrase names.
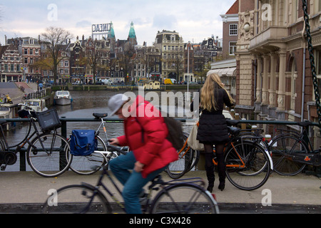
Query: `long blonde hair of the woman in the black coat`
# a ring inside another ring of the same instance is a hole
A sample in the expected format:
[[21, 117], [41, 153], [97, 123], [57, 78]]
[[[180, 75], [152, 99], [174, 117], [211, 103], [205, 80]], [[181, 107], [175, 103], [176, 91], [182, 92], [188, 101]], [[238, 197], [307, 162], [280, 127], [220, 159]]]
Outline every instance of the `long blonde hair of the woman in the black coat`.
[[[217, 84], [218, 86], [215, 86]], [[203, 88], [200, 90], [200, 108], [203, 108], [205, 110], [211, 111], [211, 110], [217, 110], [216, 107], [216, 101], [215, 101], [215, 90], [223, 88], [226, 93], [228, 91], [224, 88], [224, 84], [220, 81], [220, 76], [218, 76], [216, 73], [210, 73], [208, 75], [208, 78], [206, 78]], [[230, 98], [231, 103], [233, 103], [233, 98], [230, 96], [230, 93], [228, 93], [228, 98]]]

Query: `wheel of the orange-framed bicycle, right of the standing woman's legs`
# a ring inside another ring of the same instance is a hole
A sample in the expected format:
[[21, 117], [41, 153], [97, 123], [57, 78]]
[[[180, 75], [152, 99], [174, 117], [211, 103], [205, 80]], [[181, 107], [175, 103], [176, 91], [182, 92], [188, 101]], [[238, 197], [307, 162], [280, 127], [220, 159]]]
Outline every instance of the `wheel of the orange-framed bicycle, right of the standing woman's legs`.
[[270, 159], [254, 142], [236, 142], [225, 154], [226, 176], [240, 190], [256, 190], [270, 176]]

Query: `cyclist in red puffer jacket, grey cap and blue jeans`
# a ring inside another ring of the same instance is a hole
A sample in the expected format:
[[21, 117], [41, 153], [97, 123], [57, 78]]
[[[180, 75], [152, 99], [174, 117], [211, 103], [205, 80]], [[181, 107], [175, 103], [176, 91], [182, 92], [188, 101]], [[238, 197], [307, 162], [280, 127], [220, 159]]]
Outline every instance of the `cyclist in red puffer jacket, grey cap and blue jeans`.
[[[126, 95], [113, 95], [108, 100], [111, 115], [123, 119], [124, 132], [111, 138], [111, 145], [128, 145], [131, 152], [109, 162], [111, 171], [123, 184], [123, 199], [128, 214], [141, 214], [143, 186], [178, 160], [176, 149], [165, 138], [168, 129], [158, 109], [140, 95], [131, 101]], [[130, 172], [129, 170], [133, 170]]]

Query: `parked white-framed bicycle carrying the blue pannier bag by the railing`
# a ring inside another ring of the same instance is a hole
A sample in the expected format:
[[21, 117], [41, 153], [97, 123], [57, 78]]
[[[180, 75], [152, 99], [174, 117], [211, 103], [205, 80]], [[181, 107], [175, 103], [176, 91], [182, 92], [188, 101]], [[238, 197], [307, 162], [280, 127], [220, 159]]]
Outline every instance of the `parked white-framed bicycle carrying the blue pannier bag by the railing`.
[[[93, 116], [101, 120], [101, 123], [98, 126], [95, 135], [95, 138], [98, 142], [97, 150], [91, 153], [91, 155], [86, 156], [71, 155], [72, 162], [70, 168], [71, 170], [73, 170], [73, 172], [76, 172], [80, 175], [91, 175], [100, 170], [101, 167], [106, 165], [106, 162], [108, 161], [107, 155], [110, 155], [110, 153], [112, 153], [112, 158], [120, 155], [119, 152], [111, 150], [108, 142], [105, 120], [103, 120], [103, 118], [106, 118], [108, 116], [108, 113], [93, 113]], [[103, 140], [103, 138], [99, 136], [101, 128], [103, 128], [103, 133], [106, 140]], [[121, 147], [121, 150], [123, 152], [128, 152], [128, 147]], [[92, 167], [96, 167], [96, 169], [93, 169]]]

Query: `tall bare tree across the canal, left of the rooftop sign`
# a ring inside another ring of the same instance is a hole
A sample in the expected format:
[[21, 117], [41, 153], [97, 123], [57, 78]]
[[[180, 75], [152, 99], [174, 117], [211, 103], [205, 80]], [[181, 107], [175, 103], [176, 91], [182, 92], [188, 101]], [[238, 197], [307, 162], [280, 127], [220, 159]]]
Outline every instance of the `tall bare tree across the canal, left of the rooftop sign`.
[[49, 27], [46, 28], [46, 33], [42, 33], [42, 41], [46, 44], [46, 51], [51, 58], [51, 70], [54, 73], [54, 85], [56, 85], [58, 77], [58, 64], [64, 58], [61, 56], [61, 51], [63, 51], [63, 44], [66, 43], [70, 38], [72, 38], [69, 31], [63, 28]]

